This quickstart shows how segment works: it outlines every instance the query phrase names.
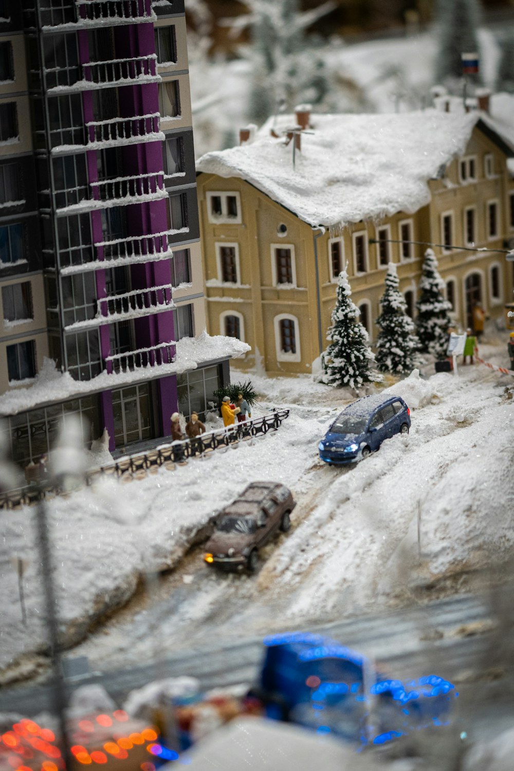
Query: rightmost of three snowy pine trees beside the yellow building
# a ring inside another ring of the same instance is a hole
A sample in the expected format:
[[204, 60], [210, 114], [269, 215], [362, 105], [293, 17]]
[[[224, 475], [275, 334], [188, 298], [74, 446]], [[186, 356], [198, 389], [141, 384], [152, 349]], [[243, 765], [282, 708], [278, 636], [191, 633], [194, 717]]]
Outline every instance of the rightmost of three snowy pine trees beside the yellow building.
[[416, 332], [421, 350], [432, 353], [435, 359], [445, 358], [448, 327], [452, 326], [449, 316], [452, 305], [445, 300], [441, 292], [444, 285], [445, 282], [439, 275], [437, 258], [432, 249], [427, 249], [419, 282], [421, 295], [416, 303]]

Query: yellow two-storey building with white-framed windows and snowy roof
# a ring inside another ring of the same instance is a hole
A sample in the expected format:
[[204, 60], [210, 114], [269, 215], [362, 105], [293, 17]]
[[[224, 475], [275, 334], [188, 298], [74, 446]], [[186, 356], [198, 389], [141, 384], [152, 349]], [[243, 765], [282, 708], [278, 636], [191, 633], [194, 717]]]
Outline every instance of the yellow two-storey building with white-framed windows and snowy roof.
[[389, 261], [415, 315], [425, 244], [438, 244], [456, 323], [474, 301], [502, 316], [512, 269], [495, 250], [514, 234], [514, 147], [487, 116], [303, 109], [249, 133], [197, 163], [208, 331], [251, 346], [241, 369], [311, 372], [345, 265], [371, 342]]

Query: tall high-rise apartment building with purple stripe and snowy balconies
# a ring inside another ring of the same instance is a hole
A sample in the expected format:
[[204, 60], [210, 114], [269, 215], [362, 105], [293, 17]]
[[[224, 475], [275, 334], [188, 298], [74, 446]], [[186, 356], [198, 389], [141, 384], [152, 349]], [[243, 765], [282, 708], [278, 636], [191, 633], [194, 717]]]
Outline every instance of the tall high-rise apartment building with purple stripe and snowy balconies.
[[[227, 379], [173, 345], [205, 326], [183, 0], [0, 0], [0, 288], [19, 463], [68, 412], [110, 449], [167, 436]], [[21, 392], [45, 357], [67, 374]]]

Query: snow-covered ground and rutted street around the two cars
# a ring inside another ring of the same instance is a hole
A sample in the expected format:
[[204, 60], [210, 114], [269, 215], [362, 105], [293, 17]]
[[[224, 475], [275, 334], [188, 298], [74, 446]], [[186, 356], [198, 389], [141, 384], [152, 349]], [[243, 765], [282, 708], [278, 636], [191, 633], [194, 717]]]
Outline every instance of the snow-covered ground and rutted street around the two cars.
[[[503, 349], [484, 346], [482, 353], [505, 364]], [[70, 641], [127, 601], [146, 571], [177, 565], [213, 510], [251, 480], [291, 487], [298, 502], [293, 529], [266, 547], [253, 577], [220, 576], [200, 554], [186, 557], [156, 589], [166, 645], [205, 644], [207, 618], [209, 635], [216, 629], [230, 638], [242, 628], [260, 634], [408, 601], [412, 581], [475, 570], [511, 553], [514, 406], [503, 389], [512, 379], [479, 366], [461, 368], [459, 377], [412, 374], [390, 388], [412, 409], [410, 435], [386, 441], [349, 469], [329, 468], [317, 458], [317, 441], [348, 403], [348, 392], [307, 376], [254, 381], [263, 394], [261, 412], [291, 408], [277, 433], [142, 481], [105, 480], [49, 503], [59, 606]], [[0, 622], [4, 668], [23, 653], [29, 663], [44, 647], [34, 517], [31, 508], [2, 518], [2, 585], [4, 597], [12, 598]], [[29, 561], [26, 629], [12, 556]], [[134, 601], [74, 655], [88, 655], [100, 668], [139, 661], [153, 645], [153, 618], [153, 608]]]

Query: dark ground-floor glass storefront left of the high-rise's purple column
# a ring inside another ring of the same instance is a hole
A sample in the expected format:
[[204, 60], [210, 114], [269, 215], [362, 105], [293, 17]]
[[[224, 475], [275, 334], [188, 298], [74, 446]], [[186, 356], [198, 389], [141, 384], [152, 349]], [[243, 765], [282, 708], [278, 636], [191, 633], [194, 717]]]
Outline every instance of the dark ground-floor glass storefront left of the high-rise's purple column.
[[86, 446], [102, 433], [97, 394], [31, 409], [6, 419], [12, 460], [20, 466], [27, 466], [31, 461], [37, 463], [43, 455], [48, 455], [55, 444], [60, 424], [70, 415], [79, 418]]

